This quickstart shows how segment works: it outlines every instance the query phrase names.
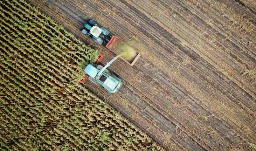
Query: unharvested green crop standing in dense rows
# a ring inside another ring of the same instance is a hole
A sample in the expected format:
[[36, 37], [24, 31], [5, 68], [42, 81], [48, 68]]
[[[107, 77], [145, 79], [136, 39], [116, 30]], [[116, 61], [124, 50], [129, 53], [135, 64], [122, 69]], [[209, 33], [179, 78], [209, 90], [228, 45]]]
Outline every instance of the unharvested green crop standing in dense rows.
[[97, 55], [24, 0], [1, 0], [0, 149], [160, 150], [73, 81]]

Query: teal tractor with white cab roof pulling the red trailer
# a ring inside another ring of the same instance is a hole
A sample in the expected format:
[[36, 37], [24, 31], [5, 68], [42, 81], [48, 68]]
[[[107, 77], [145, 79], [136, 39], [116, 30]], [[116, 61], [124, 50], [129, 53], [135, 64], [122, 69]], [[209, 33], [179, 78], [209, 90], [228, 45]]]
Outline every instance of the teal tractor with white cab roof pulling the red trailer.
[[112, 37], [106, 28], [97, 25], [97, 23], [92, 19], [88, 19], [86, 21], [83, 26], [82, 33], [91, 37], [92, 40], [99, 45], [102, 45], [103, 42], [107, 44]]

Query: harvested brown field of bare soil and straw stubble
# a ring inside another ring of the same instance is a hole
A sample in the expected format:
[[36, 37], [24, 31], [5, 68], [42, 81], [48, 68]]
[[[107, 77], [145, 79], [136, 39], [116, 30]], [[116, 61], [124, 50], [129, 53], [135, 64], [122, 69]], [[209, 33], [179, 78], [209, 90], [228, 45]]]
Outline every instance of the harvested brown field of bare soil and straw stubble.
[[85, 87], [167, 150], [250, 150], [256, 143], [256, 13], [250, 0], [29, 0], [77, 38], [85, 18], [119, 38], [141, 41], [133, 67], [111, 69], [123, 78], [118, 94]]

